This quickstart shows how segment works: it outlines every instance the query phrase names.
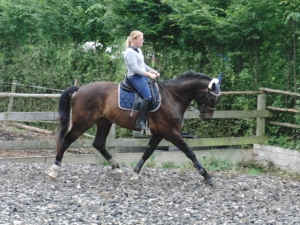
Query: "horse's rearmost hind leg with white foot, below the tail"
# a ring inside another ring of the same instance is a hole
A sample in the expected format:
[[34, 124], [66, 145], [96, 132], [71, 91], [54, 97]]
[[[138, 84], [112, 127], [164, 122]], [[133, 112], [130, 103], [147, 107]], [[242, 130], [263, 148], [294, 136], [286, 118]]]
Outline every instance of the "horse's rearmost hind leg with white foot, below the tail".
[[54, 164], [50, 168], [50, 171], [49, 171], [49, 174], [48, 174], [50, 180], [55, 180], [56, 179], [56, 177], [58, 175], [58, 171], [59, 171], [59, 169], [61, 167], [61, 161], [62, 161], [62, 158], [64, 156], [65, 151], [83, 133], [84, 133], [83, 130], [76, 129], [76, 127], [73, 125], [73, 127], [71, 128], [71, 130], [64, 137], [62, 143], [59, 143], [59, 141], [58, 141], [58, 143], [57, 143], [57, 149], [56, 149], [56, 151], [57, 151], [56, 158], [55, 158]]

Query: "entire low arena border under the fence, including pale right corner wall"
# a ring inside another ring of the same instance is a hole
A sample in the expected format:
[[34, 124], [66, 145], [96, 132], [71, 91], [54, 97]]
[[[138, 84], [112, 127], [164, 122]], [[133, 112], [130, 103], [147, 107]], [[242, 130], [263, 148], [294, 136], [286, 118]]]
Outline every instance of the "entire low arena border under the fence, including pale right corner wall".
[[[282, 170], [300, 173], [300, 152], [297, 150], [284, 149], [280, 147], [254, 144], [253, 149], [217, 149], [217, 150], [194, 150], [200, 159], [217, 158], [226, 160], [230, 163], [240, 161], [255, 160], [261, 163], [273, 162], [273, 164]], [[143, 152], [116, 152], [110, 150], [114, 158], [125, 166], [131, 166], [142, 156]], [[19, 163], [46, 163], [52, 164], [55, 156], [32, 156], [32, 157], [11, 157], [0, 158], [0, 162], [19, 162]], [[155, 166], [160, 167], [166, 162], [176, 164], [185, 164], [190, 160], [181, 151], [163, 151], [156, 150], [151, 158]], [[105, 159], [100, 154], [67, 154], [64, 156], [63, 163], [66, 164], [95, 164], [106, 165]]]

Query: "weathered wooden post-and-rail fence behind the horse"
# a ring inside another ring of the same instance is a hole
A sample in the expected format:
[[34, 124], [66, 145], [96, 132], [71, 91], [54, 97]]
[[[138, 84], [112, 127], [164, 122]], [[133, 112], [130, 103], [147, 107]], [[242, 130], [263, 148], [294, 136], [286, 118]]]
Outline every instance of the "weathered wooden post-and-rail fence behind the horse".
[[[13, 90], [13, 88], [12, 88]], [[300, 94], [292, 92], [284, 92], [272, 90], [267, 88], [260, 88], [260, 91], [246, 91], [246, 92], [222, 92], [222, 95], [257, 95], [257, 109], [256, 110], [237, 110], [237, 111], [215, 111], [213, 119], [227, 119], [227, 118], [256, 118], [256, 135], [247, 137], [221, 137], [221, 138], [195, 138], [186, 139], [190, 147], [200, 146], [240, 146], [249, 144], [265, 143], [268, 138], [265, 136], [266, 118], [271, 117], [271, 110], [287, 111], [299, 113], [294, 109], [280, 109], [271, 106], [266, 106], [267, 93], [289, 94], [292, 96], [300, 96]], [[7, 123], [8, 121], [57, 121], [57, 112], [12, 112], [12, 102], [14, 98], [58, 98], [60, 94], [20, 94], [20, 93], [0, 93], [0, 98], [10, 98], [10, 103], [7, 112], [0, 112], [0, 122]], [[184, 114], [185, 119], [198, 118], [198, 111], [187, 111]], [[270, 121], [269, 124], [288, 126], [300, 128], [300, 125], [286, 124]], [[110, 132], [107, 147], [120, 148], [120, 147], [144, 147], [148, 143], [148, 139], [135, 139], [135, 138], [115, 138], [115, 126], [112, 127]], [[91, 148], [93, 139], [78, 139], [71, 145], [71, 148]], [[9, 149], [53, 149], [55, 148], [56, 140], [53, 141], [7, 141], [2, 142], [0, 150]], [[160, 143], [160, 146], [172, 146], [166, 140]]]

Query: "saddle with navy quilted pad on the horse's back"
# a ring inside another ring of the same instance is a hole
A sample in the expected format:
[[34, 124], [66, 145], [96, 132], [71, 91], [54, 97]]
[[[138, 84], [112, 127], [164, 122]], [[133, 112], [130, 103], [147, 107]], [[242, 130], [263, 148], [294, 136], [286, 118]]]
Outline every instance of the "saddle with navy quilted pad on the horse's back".
[[[148, 80], [148, 85], [152, 95], [152, 102], [150, 103], [149, 111], [154, 112], [160, 107], [161, 97], [156, 83], [154, 83], [152, 80]], [[125, 79], [119, 84], [119, 108], [124, 110], [131, 110], [130, 115], [132, 116], [133, 111], [139, 110], [141, 102], [141, 96], [131, 85], [128, 78], [125, 77]]]

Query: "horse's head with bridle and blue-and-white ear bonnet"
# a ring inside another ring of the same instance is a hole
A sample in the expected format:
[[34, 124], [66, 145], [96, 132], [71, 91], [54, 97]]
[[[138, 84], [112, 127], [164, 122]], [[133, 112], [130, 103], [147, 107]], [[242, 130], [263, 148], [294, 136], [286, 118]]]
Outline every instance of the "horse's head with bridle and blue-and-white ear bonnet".
[[206, 120], [213, 117], [217, 98], [221, 93], [220, 84], [222, 77], [223, 75], [220, 74], [218, 78], [213, 78], [204, 92], [201, 90], [196, 93], [195, 99], [199, 105], [198, 110], [200, 111], [199, 116], [201, 119]]

